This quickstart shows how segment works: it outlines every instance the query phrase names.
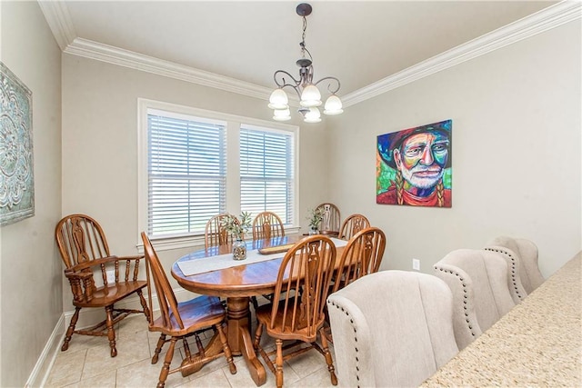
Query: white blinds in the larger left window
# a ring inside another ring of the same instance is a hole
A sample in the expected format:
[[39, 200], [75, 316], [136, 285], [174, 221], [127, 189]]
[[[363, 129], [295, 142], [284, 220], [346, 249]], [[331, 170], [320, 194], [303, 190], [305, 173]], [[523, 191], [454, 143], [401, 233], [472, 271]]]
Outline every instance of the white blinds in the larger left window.
[[226, 212], [226, 124], [148, 111], [150, 236], [204, 234]]

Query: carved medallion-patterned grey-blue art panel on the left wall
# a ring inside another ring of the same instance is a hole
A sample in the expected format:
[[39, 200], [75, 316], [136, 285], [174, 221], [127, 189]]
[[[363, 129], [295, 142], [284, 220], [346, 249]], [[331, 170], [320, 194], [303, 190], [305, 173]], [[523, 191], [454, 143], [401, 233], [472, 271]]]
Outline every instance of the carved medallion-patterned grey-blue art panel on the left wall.
[[32, 101], [0, 62], [0, 225], [35, 215]]

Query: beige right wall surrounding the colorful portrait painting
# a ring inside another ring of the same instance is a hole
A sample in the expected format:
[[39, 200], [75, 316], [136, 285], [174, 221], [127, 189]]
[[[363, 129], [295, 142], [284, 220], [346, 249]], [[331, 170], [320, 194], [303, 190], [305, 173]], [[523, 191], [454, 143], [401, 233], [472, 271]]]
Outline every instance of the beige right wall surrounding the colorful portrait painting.
[[[350, 106], [330, 136], [331, 200], [387, 235], [383, 269], [432, 273], [497, 235], [553, 274], [581, 248], [580, 20]], [[453, 120], [451, 209], [376, 204], [376, 136]]]

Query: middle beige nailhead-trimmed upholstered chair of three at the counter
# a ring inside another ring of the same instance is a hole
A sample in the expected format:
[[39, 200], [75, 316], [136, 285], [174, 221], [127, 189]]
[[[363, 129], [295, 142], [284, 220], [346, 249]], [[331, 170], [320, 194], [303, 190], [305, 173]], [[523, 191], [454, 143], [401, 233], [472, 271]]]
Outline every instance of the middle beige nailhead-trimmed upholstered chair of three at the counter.
[[507, 262], [497, 253], [457, 249], [434, 268], [453, 292], [453, 323], [459, 349], [475, 341], [516, 305], [507, 284]]

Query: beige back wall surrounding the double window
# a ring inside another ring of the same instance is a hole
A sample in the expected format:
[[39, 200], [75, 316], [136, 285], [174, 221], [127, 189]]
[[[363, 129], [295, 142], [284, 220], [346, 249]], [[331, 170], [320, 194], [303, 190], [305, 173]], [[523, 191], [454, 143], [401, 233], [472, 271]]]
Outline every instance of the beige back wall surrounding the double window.
[[[271, 120], [264, 100], [64, 55], [63, 214], [79, 212], [95, 217], [105, 228], [110, 248], [116, 254], [135, 254], [140, 232], [137, 230], [139, 97]], [[327, 198], [325, 123], [302, 125], [299, 139], [299, 221], [303, 223], [307, 207]], [[171, 264], [187, 251], [158, 254], [169, 272]], [[70, 299], [65, 292], [65, 311], [71, 309]]]

